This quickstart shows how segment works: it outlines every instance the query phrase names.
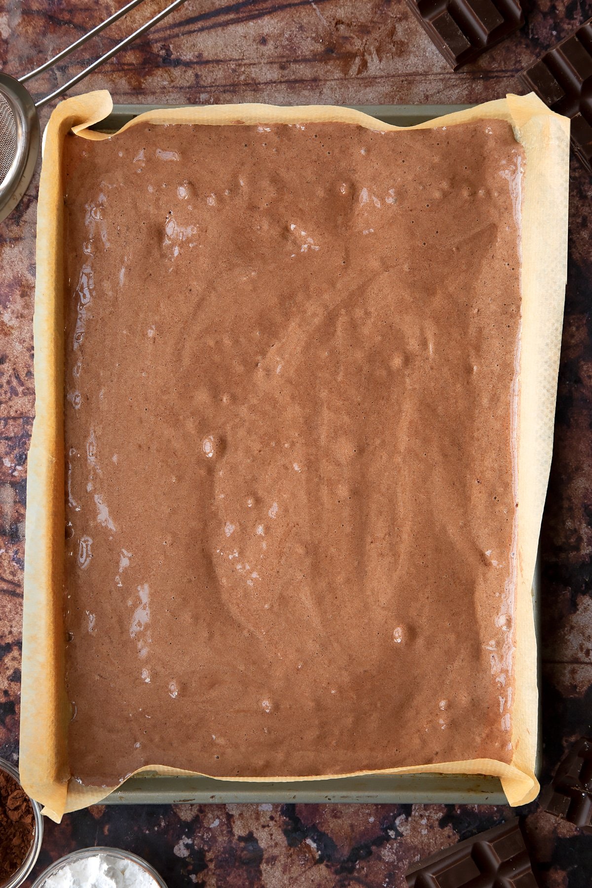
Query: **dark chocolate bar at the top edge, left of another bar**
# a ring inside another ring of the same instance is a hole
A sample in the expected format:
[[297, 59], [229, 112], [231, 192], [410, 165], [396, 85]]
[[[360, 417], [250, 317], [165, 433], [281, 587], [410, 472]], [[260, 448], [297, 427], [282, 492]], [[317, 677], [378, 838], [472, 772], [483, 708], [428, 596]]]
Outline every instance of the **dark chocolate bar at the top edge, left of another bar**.
[[407, 0], [407, 5], [454, 70], [525, 23], [520, 0]]

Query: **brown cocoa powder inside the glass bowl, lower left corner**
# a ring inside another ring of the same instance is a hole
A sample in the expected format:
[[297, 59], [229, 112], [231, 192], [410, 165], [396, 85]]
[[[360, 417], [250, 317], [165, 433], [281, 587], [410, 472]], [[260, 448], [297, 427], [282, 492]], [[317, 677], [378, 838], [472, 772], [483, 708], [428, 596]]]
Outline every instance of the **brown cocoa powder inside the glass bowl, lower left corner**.
[[0, 768], [0, 886], [14, 875], [33, 844], [35, 814], [24, 789]]

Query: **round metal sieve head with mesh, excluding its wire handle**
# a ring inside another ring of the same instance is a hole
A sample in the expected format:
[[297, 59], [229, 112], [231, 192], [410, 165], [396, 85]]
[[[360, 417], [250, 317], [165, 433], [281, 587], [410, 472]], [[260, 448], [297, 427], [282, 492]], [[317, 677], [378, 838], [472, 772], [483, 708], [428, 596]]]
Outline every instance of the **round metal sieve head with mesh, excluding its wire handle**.
[[16, 128], [17, 151], [0, 182], [0, 221], [14, 209], [25, 194], [39, 155], [41, 140], [35, 102], [14, 77], [0, 71], [0, 91], [11, 108]]

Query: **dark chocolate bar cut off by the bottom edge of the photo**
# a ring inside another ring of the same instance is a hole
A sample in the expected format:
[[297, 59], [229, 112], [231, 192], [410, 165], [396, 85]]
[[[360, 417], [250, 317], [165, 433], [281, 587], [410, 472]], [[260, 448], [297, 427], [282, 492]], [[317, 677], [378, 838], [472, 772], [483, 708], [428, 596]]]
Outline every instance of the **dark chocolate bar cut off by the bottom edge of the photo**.
[[408, 888], [537, 888], [517, 817], [421, 860]]

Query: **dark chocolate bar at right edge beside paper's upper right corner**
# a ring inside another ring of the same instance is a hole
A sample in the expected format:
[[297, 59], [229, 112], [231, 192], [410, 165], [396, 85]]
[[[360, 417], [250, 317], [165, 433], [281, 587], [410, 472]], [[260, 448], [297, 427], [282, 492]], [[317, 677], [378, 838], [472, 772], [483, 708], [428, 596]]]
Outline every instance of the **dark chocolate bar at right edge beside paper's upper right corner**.
[[520, 75], [525, 87], [552, 111], [571, 118], [573, 151], [588, 172], [592, 172], [591, 78], [592, 19]]

